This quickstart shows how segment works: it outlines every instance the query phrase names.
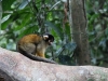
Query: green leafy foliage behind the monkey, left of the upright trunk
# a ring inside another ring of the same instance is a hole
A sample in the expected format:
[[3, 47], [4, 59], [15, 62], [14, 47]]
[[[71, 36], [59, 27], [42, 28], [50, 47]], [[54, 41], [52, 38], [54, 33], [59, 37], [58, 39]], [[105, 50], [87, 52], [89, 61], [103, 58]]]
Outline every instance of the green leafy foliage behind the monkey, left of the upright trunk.
[[[9, 2], [9, 3], [8, 3]], [[6, 4], [6, 5], [5, 5]], [[0, 45], [16, 50], [16, 42], [28, 33], [50, 32], [55, 37], [53, 46], [48, 49], [46, 57], [59, 64], [75, 65], [69, 23], [64, 24], [64, 2], [53, 0], [3, 0]], [[63, 27], [64, 25], [64, 27]]]

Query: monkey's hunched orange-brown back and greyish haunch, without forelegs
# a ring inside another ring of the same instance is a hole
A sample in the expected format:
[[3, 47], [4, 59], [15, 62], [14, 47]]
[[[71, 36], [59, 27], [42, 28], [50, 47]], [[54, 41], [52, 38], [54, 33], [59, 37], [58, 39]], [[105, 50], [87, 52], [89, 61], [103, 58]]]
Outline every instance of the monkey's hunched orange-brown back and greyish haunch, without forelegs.
[[36, 54], [37, 45], [42, 41], [42, 37], [38, 35], [27, 35], [23, 37], [16, 44], [16, 50], [21, 53], [27, 52]]

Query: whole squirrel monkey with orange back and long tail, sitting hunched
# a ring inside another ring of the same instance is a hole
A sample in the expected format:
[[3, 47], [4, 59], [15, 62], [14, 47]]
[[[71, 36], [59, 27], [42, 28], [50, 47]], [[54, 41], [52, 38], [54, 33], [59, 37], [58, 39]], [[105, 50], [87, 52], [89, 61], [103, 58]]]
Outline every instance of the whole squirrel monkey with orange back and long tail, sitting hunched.
[[54, 41], [54, 37], [50, 33], [43, 36], [27, 35], [23, 37], [16, 44], [16, 49], [19, 53], [33, 60], [45, 62], [56, 64], [53, 60], [45, 58], [45, 50]]

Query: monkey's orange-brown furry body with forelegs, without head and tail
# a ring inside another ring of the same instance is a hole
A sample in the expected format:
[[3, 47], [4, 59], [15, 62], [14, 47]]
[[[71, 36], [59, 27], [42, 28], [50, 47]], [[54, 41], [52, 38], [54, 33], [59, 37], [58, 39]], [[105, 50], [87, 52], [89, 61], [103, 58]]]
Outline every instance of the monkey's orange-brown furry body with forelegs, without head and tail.
[[17, 49], [25, 50], [27, 53], [31, 53], [36, 56], [45, 57], [44, 52], [48, 48], [41, 36], [28, 35], [23, 37], [18, 43]]

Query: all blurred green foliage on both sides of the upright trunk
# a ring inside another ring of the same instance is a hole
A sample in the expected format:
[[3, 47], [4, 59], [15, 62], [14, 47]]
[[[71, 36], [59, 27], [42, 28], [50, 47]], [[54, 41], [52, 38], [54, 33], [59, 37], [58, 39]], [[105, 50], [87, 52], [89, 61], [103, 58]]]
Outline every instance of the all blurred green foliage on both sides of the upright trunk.
[[[76, 65], [72, 29], [64, 24], [62, 0], [2, 0], [0, 46], [16, 51], [16, 42], [28, 33], [50, 32], [54, 44], [46, 57], [59, 64]], [[36, 8], [37, 6], [37, 8]], [[108, 1], [86, 0], [87, 35], [93, 65], [107, 67], [108, 63]]]

